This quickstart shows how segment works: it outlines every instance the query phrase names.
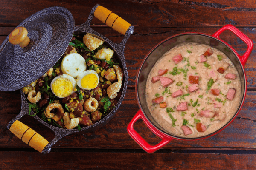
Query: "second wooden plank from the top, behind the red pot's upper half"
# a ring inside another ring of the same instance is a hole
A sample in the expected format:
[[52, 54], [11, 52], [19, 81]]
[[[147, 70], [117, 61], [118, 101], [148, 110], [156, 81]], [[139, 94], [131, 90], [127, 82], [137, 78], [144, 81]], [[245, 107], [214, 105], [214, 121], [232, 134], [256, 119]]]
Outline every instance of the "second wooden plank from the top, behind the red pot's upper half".
[[[100, 34], [104, 35], [111, 41], [115, 43], [120, 43], [123, 36], [111, 28], [93, 28]], [[136, 76], [138, 69], [144, 57], [148, 52], [159, 42], [165, 40], [168, 37], [184, 33], [184, 32], [199, 32], [205, 34], [214, 34], [219, 28], [152, 28], [152, 27], [136, 27], [134, 34], [129, 38], [125, 45], [125, 61], [128, 68], [128, 87], [135, 88]], [[1, 27], [0, 27], [1, 30]], [[9, 31], [11, 31], [10, 29]], [[254, 28], [239, 28], [244, 34], [246, 34], [250, 39], [256, 39], [256, 30]], [[9, 33], [8, 33], [9, 34]], [[0, 36], [0, 43], [6, 36]], [[247, 49], [247, 45], [236, 37], [230, 31], [224, 31], [221, 34], [221, 39], [230, 44], [235, 48], [238, 53], [244, 54]], [[252, 54], [250, 55], [247, 63], [245, 65], [245, 71], [247, 75], [247, 83], [249, 90], [256, 90], [256, 47], [253, 48]]]

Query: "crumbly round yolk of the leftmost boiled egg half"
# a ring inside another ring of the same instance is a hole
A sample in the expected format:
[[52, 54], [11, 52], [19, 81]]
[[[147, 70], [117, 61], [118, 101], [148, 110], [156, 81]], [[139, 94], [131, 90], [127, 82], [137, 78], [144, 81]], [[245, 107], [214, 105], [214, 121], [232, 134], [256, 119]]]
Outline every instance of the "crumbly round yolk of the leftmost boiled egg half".
[[52, 91], [58, 97], [66, 97], [66, 96], [70, 95], [71, 92], [73, 91], [72, 82], [69, 79], [65, 79], [62, 77], [58, 78], [52, 84]]

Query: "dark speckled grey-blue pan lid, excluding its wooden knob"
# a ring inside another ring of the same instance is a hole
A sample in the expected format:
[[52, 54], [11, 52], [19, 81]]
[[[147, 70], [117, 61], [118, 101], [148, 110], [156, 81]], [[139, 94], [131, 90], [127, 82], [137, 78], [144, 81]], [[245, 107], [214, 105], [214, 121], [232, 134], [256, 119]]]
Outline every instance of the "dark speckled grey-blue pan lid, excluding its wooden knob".
[[[73, 15], [66, 8], [50, 7], [36, 12], [17, 27], [25, 27], [29, 45], [0, 45], [0, 90], [15, 91], [46, 73], [65, 52], [74, 31]], [[17, 34], [17, 32], [16, 32]]]

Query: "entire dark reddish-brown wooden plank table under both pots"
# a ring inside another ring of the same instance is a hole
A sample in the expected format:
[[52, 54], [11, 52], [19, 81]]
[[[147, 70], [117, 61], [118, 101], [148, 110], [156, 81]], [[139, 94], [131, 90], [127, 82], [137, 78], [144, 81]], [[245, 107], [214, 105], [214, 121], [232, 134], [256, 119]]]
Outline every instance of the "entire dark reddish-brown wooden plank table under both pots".
[[[0, 0], [0, 43], [23, 20], [41, 9], [62, 6], [70, 10], [76, 25], [87, 20], [91, 8], [99, 3], [135, 26], [125, 45], [128, 90], [113, 119], [91, 132], [74, 133], [59, 140], [50, 153], [42, 155], [6, 129], [20, 112], [20, 91], [0, 91], [0, 169], [228, 169], [256, 167], [256, 52], [253, 48], [245, 65], [247, 96], [236, 119], [215, 136], [198, 141], [173, 140], [155, 153], [145, 153], [128, 135], [126, 127], [139, 110], [135, 97], [135, 80], [140, 63], [157, 43], [183, 32], [213, 34], [232, 24], [256, 40], [256, 3], [252, 0]], [[113, 42], [123, 36], [93, 19], [91, 27]], [[247, 45], [230, 31], [221, 39], [243, 54]], [[21, 120], [47, 140], [54, 133], [31, 116]], [[142, 121], [135, 129], [150, 144], [160, 138]]]

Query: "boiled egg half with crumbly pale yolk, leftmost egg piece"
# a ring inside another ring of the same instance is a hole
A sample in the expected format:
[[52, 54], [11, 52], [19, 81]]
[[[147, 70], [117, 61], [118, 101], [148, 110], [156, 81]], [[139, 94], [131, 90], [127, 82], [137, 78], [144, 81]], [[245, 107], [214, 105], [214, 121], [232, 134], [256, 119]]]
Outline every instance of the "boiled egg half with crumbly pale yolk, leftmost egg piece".
[[52, 79], [51, 89], [52, 93], [59, 98], [64, 98], [73, 93], [73, 89], [76, 87], [76, 80], [67, 74]]

